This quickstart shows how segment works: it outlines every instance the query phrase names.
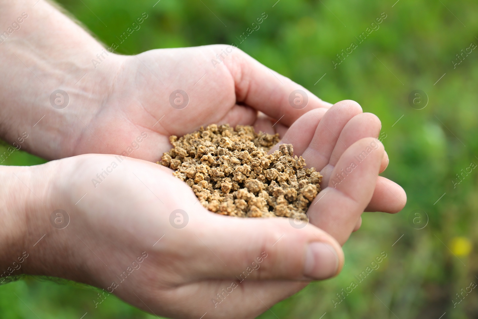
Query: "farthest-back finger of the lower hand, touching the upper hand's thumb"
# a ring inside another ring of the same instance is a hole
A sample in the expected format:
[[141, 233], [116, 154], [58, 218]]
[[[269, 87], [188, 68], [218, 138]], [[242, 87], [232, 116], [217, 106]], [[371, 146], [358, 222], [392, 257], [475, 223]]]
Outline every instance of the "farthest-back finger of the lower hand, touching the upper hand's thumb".
[[282, 140], [274, 145], [269, 153], [279, 149], [280, 144], [292, 144], [294, 147], [294, 154], [301, 155], [309, 146], [310, 141], [314, 138], [315, 130], [319, 125], [320, 120], [326, 114], [327, 109], [320, 108], [310, 110], [295, 121], [291, 127], [284, 134]]

